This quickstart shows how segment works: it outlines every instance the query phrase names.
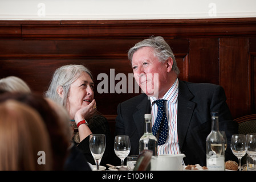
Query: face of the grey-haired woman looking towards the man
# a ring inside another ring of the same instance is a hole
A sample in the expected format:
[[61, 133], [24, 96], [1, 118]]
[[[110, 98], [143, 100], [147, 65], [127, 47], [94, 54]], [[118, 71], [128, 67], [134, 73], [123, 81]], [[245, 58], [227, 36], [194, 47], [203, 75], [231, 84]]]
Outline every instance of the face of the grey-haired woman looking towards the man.
[[94, 100], [94, 82], [88, 73], [83, 72], [80, 77], [70, 85], [67, 98], [67, 109], [70, 115], [90, 104]]

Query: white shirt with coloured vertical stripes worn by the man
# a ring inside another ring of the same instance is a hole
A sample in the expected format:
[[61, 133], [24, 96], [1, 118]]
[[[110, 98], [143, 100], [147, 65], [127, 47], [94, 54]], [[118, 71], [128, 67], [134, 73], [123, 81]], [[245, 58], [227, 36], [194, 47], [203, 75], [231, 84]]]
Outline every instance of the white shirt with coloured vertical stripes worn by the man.
[[[172, 85], [172, 87], [165, 93], [162, 99], [165, 102], [165, 112], [168, 119], [168, 138], [166, 143], [158, 146], [158, 155], [162, 154], [180, 154], [180, 147], [178, 146], [178, 131], [177, 131], [177, 109], [178, 109], [178, 78]], [[157, 117], [157, 105], [154, 101], [157, 100], [156, 97], [150, 97], [151, 100], [151, 114], [152, 114], [152, 126], [154, 125]]]

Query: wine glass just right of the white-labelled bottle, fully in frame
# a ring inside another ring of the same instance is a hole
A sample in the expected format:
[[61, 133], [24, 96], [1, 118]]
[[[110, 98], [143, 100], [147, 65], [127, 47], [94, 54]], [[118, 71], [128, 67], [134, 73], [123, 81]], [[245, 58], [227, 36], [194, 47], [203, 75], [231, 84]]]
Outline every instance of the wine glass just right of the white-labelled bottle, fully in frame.
[[245, 142], [246, 142], [245, 135], [237, 134], [237, 135], [232, 135], [231, 137], [230, 147], [233, 154], [238, 158], [239, 171], [241, 171], [241, 159], [246, 154]]

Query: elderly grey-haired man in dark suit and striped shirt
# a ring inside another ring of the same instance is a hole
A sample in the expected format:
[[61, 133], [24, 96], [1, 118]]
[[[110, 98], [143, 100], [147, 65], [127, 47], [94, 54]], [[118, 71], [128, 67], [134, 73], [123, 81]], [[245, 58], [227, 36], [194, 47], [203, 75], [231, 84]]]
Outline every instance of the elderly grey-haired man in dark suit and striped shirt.
[[[179, 80], [179, 69], [172, 49], [160, 37], [145, 39], [128, 52], [133, 74], [143, 94], [117, 106], [116, 135], [129, 135], [130, 155], [139, 154], [139, 139], [144, 133], [144, 114], [152, 114], [152, 131], [158, 138], [158, 154], [185, 154], [185, 164], [206, 165], [206, 137], [211, 131], [211, 111], [219, 113], [220, 130], [230, 146], [232, 134], [238, 133], [221, 86], [194, 84]], [[161, 135], [155, 126], [157, 104], [165, 106], [168, 128]], [[160, 138], [161, 137], [161, 138]], [[237, 160], [226, 150], [226, 160]]]

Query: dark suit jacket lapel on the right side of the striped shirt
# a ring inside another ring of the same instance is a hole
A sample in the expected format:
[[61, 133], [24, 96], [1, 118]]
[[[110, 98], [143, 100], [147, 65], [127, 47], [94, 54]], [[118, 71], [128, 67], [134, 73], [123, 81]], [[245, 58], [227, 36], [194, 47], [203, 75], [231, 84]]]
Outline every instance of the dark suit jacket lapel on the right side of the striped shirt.
[[190, 101], [194, 96], [189, 91], [188, 86], [180, 80], [178, 84], [178, 144], [180, 146], [180, 150], [182, 150], [196, 104]]

